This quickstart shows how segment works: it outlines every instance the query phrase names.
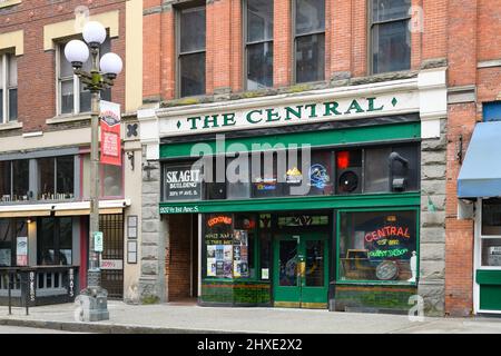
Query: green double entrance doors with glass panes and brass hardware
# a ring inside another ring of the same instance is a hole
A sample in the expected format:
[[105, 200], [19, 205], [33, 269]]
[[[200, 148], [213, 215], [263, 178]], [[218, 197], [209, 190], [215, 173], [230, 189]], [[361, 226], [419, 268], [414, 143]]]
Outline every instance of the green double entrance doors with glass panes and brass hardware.
[[311, 233], [277, 236], [273, 279], [275, 306], [327, 308], [327, 236]]

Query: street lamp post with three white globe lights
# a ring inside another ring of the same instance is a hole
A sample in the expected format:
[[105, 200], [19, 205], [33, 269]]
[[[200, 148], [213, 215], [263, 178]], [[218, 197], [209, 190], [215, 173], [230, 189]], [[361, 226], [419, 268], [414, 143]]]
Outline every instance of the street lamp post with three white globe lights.
[[[106, 289], [100, 287], [99, 253], [95, 250], [95, 233], [99, 231], [99, 107], [100, 93], [110, 88], [117, 75], [121, 72], [122, 62], [119, 56], [106, 53], [99, 60], [100, 46], [106, 40], [105, 27], [96, 21], [84, 27], [84, 39], [71, 40], [65, 47], [65, 57], [71, 62], [75, 75], [91, 93], [91, 138], [90, 138], [90, 220], [89, 220], [89, 267], [87, 288], [80, 295], [88, 298], [88, 310], [85, 318], [89, 322], [109, 319]], [[91, 56], [90, 71], [82, 66]], [[87, 307], [87, 306], [86, 306]]]

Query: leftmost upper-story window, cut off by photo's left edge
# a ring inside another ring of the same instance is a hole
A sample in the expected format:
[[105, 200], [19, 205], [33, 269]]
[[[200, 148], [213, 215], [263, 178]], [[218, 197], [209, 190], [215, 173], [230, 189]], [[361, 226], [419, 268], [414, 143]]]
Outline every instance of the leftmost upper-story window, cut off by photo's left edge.
[[18, 61], [14, 55], [0, 56], [0, 123], [18, 118]]

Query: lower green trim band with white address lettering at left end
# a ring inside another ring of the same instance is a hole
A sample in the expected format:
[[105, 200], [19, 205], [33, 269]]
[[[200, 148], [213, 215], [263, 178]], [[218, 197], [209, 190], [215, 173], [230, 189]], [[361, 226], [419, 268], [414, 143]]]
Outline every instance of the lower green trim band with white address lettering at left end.
[[308, 196], [246, 200], [197, 200], [160, 202], [160, 214], [250, 212], [340, 208], [395, 208], [415, 209], [421, 194], [371, 194], [350, 196]]

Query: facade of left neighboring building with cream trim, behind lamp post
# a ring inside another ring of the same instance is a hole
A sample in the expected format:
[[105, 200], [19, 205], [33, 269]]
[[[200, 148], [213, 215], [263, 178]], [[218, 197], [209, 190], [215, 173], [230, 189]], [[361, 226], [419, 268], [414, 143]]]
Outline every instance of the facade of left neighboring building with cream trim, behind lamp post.
[[[63, 49], [69, 40], [81, 38], [89, 19], [105, 26], [109, 40], [101, 51], [119, 55], [125, 69], [104, 98], [121, 106], [125, 132], [141, 105], [141, 92], [131, 85], [143, 80], [141, 58], [138, 61], [131, 56], [143, 46], [141, 37], [134, 34], [141, 32], [140, 9], [141, 1], [0, 3], [4, 88], [0, 122], [1, 266], [65, 265], [75, 268], [75, 288], [86, 287], [90, 95], [75, 80]], [[139, 76], [130, 67], [139, 70]], [[108, 245], [102, 259], [112, 266], [104, 270], [102, 281], [116, 298], [128, 298], [138, 281], [136, 265], [125, 258], [124, 230], [129, 215], [140, 215], [140, 196], [128, 192], [140, 181], [140, 172], [132, 168], [134, 164], [140, 167], [140, 146], [137, 137], [124, 134], [122, 138], [124, 157], [130, 159], [124, 159], [122, 168], [100, 168], [100, 224]], [[27, 259], [16, 260], [20, 253], [17, 244], [22, 238], [28, 239]], [[68, 268], [55, 271], [52, 277], [51, 271], [40, 270], [39, 295], [63, 295], [60, 284], [62, 280], [68, 287]], [[72, 290], [71, 295], [78, 293]]]

